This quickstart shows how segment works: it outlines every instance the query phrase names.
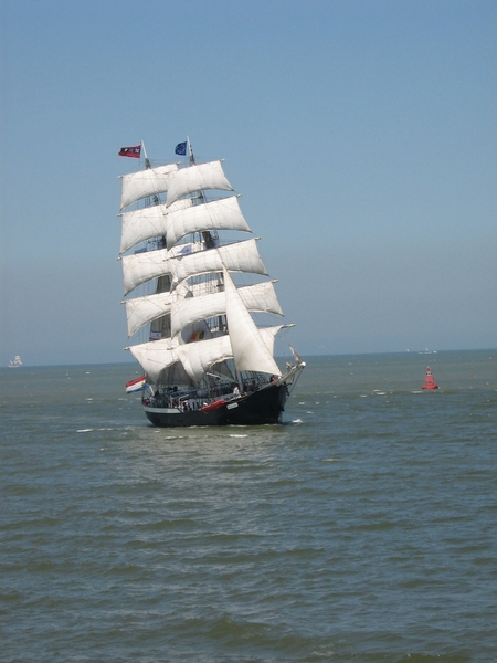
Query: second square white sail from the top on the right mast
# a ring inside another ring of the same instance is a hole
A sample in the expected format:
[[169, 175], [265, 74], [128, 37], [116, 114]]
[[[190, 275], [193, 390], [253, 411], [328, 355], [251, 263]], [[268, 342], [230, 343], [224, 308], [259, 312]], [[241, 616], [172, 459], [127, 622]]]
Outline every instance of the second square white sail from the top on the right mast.
[[[180, 202], [183, 202], [183, 200], [177, 200], [169, 210], [172, 210]], [[170, 211], [167, 225], [166, 240], [168, 248], [175, 245], [179, 240], [192, 232], [202, 232], [205, 230], [241, 230], [251, 232], [240, 209], [236, 196], [198, 204], [184, 211]]]

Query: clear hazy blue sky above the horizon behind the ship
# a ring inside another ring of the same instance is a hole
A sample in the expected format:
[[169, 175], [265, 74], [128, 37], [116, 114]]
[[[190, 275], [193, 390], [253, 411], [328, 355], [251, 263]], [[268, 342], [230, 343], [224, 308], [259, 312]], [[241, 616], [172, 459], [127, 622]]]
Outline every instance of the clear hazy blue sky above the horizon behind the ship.
[[497, 347], [495, 0], [3, 0], [0, 365], [130, 360], [117, 176], [225, 158], [303, 355]]

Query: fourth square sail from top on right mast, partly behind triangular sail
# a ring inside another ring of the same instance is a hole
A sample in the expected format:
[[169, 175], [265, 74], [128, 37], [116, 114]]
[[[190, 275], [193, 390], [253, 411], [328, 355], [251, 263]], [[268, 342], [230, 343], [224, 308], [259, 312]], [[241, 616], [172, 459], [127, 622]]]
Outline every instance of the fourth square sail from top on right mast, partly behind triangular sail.
[[[248, 311], [283, 315], [271, 281], [247, 285], [239, 290], [242, 302]], [[202, 319], [226, 313], [224, 292], [176, 299], [171, 304], [171, 336]]]

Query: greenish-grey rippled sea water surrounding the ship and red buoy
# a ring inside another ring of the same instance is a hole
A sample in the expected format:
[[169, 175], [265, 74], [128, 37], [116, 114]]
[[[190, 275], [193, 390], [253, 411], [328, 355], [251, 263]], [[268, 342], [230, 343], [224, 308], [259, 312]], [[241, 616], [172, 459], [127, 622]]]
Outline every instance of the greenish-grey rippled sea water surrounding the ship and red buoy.
[[497, 661], [497, 350], [309, 358], [260, 428], [0, 375], [2, 662]]

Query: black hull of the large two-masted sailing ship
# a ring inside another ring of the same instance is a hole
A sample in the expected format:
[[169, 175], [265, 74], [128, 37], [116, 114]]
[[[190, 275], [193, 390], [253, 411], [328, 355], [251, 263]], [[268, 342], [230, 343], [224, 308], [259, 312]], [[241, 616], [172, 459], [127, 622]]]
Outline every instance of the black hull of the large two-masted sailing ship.
[[286, 385], [268, 385], [258, 391], [226, 401], [215, 410], [201, 412], [145, 408], [150, 423], [157, 427], [262, 425], [278, 423], [288, 398]]

